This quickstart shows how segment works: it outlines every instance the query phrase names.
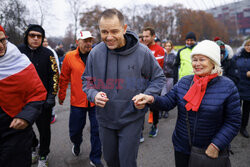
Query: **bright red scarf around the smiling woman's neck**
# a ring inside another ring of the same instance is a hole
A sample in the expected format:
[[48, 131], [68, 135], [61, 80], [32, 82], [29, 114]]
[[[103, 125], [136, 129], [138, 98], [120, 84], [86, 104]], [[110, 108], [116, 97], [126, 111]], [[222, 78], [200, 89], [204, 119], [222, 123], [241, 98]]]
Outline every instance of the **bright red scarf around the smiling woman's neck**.
[[201, 101], [205, 95], [207, 89], [207, 83], [217, 77], [218, 74], [211, 74], [205, 77], [199, 77], [198, 75], [194, 75], [194, 84], [189, 88], [186, 95], [183, 97], [184, 100], [187, 101], [186, 109], [187, 111], [191, 110], [197, 112]]

